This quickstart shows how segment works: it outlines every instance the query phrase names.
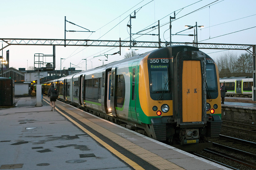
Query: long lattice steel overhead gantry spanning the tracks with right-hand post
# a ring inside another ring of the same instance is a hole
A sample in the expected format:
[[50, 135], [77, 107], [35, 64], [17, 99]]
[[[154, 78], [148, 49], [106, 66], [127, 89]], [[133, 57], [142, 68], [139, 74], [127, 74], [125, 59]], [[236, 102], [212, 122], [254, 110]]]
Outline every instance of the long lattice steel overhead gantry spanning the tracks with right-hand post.
[[[130, 47], [131, 41], [119, 40], [91, 40], [91, 39], [21, 39], [0, 38], [7, 45], [0, 47], [0, 51], [10, 45], [33, 45], [33, 46], [102, 46], [102, 47]], [[133, 47], [161, 48], [168, 46], [169, 42], [133, 41]], [[172, 42], [172, 45], [195, 46], [194, 42]], [[246, 50], [253, 55], [253, 84], [256, 84], [256, 45], [251, 44], [222, 44], [222, 43], [197, 43], [199, 49], [233, 49]], [[256, 87], [253, 88], [253, 100], [256, 101]]]

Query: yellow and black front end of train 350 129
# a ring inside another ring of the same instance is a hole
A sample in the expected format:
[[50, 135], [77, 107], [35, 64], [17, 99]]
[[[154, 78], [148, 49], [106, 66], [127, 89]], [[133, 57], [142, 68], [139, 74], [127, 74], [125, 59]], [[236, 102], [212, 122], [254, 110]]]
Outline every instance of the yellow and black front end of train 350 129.
[[139, 120], [149, 137], [197, 151], [212, 146], [209, 137], [219, 136], [218, 68], [198, 48], [170, 46], [145, 56], [138, 93]]

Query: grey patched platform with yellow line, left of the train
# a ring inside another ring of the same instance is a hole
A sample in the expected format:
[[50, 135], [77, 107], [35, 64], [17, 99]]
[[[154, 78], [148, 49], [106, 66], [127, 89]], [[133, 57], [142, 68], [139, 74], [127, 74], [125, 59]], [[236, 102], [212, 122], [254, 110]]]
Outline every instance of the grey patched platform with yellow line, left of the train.
[[223, 167], [48, 97], [0, 110], [0, 169], [218, 170]]

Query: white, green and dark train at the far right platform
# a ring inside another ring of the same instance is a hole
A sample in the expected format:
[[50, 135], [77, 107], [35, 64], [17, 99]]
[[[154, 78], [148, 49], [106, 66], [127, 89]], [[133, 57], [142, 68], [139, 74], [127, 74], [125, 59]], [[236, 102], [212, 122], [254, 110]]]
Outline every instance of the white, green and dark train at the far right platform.
[[227, 89], [227, 97], [252, 97], [253, 78], [228, 77], [220, 78]]

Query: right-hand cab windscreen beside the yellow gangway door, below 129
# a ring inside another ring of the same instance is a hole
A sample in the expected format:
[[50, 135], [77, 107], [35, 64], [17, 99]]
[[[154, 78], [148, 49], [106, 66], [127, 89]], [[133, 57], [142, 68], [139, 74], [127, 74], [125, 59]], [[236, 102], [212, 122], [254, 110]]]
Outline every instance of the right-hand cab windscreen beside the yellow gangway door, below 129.
[[[206, 90], [210, 93], [212, 99], [218, 97], [218, 86], [214, 64], [206, 64]], [[209, 97], [207, 95], [207, 97]]]

